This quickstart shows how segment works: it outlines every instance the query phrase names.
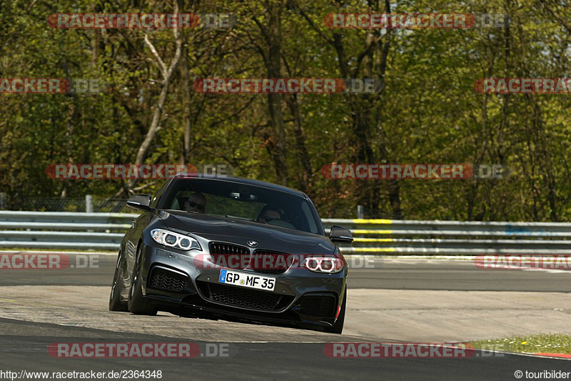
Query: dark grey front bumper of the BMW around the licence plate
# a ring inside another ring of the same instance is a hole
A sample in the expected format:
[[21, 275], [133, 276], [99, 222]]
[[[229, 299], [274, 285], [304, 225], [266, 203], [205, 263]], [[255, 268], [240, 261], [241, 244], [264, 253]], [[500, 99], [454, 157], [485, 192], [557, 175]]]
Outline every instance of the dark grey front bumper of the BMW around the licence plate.
[[277, 324], [334, 324], [345, 291], [346, 268], [336, 274], [290, 268], [281, 274], [250, 269], [239, 272], [276, 278], [272, 292], [221, 284], [221, 269], [197, 266], [204, 252], [175, 252], [154, 244], [143, 245], [143, 295], [159, 309], [178, 315], [206, 313], [236, 320]]

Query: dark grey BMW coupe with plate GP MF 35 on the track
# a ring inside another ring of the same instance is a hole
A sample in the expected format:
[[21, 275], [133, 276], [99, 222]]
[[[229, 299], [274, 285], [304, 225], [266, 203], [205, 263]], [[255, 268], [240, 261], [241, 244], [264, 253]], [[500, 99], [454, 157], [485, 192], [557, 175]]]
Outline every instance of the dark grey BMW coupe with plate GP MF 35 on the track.
[[109, 310], [248, 320], [341, 333], [347, 264], [303, 192], [237, 177], [179, 174], [154, 197], [119, 250]]

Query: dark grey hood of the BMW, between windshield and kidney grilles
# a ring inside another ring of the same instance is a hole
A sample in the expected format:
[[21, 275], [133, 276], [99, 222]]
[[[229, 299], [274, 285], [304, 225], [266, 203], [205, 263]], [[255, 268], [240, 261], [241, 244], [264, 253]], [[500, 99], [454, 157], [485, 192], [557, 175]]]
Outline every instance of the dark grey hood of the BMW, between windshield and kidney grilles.
[[288, 254], [332, 254], [335, 251], [335, 245], [328, 237], [285, 227], [175, 210], [161, 210], [158, 217], [173, 232], [192, 233], [209, 241], [246, 246], [246, 242], [253, 240], [258, 242], [253, 249], [276, 250]]

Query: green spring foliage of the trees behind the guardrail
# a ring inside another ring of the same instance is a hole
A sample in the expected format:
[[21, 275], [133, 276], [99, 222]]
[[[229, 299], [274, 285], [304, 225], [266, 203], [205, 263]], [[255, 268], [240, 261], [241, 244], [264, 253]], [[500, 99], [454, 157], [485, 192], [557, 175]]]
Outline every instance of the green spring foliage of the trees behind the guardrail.
[[[370, 2], [373, 4], [374, 2]], [[233, 29], [183, 30], [188, 76], [267, 76], [266, 25], [281, 15], [283, 76], [340, 78], [338, 52], [326, 41], [334, 30], [323, 16], [334, 1], [181, 1], [181, 11], [235, 14]], [[384, 4], [380, 3], [380, 4]], [[571, 7], [567, 1], [408, 0], [392, 12], [509, 14], [507, 29], [337, 31], [350, 70], [368, 38], [389, 43], [385, 88], [373, 97], [300, 94], [303, 137], [296, 139], [293, 113], [283, 102], [288, 186], [301, 188], [323, 217], [355, 217], [366, 199], [369, 217], [393, 217], [388, 182], [328, 180], [323, 165], [355, 162], [355, 110], [368, 114], [367, 144], [375, 164], [504, 164], [497, 180], [403, 180], [400, 208], [406, 219], [571, 220], [571, 152], [568, 94], [479, 94], [485, 77], [569, 77]], [[0, 94], [0, 192], [14, 207], [23, 197], [125, 197], [121, 180], [53, 180], [49, 164], [130, 163], [151, 124], [161, 91], [161, 72], [141, 29], [53, 29], [54, 12], [173, 11], [171, 1], [8, 0], [0, 9], [0, 77], [97, 78], [101, 94]], [[345, 1], [343, 12], [369, 11], [364, 1]], [[383, 5], [372, 11], [385, 12]], [[303, 16], [313, 22], [310, 24]], [[148, 31], [159, 56], [173, 58], [171, 30]], [[380, 59], [378, 53], [370, 56]], [[366, 61], [366, 59], [365, 59]], [[189, 94], [186, 98], [185, 94]], [[359, 98], [362, 97], [362, 98]], [[276, 182], [268, 97], [263, 94], [188, 93], [179, 65], [169, 87], [161, 129], [147, 163], [183, 162], [185, 115], [191, 121], [192, 164], [230, 164], [236, 175]], [[302, 142], [303, 144], [300, 144]], [[304, 177], [303, 146], [311, 174]], [[187, 163], [188, 164], [188, 163]], [[157, 180], [136, 184], [153, 192]], [[131, 192], [133, 189], [131, 189]]]

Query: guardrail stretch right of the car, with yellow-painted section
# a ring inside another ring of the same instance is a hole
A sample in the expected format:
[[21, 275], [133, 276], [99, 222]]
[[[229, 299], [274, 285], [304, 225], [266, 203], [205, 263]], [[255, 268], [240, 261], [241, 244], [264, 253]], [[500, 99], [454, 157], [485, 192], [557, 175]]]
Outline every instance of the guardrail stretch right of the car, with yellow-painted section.
[[[571, 254], [571, 223], [323, 219], [351, 229], [344, 253]], [[406, 238], [400, 238], [400, 237]]]

